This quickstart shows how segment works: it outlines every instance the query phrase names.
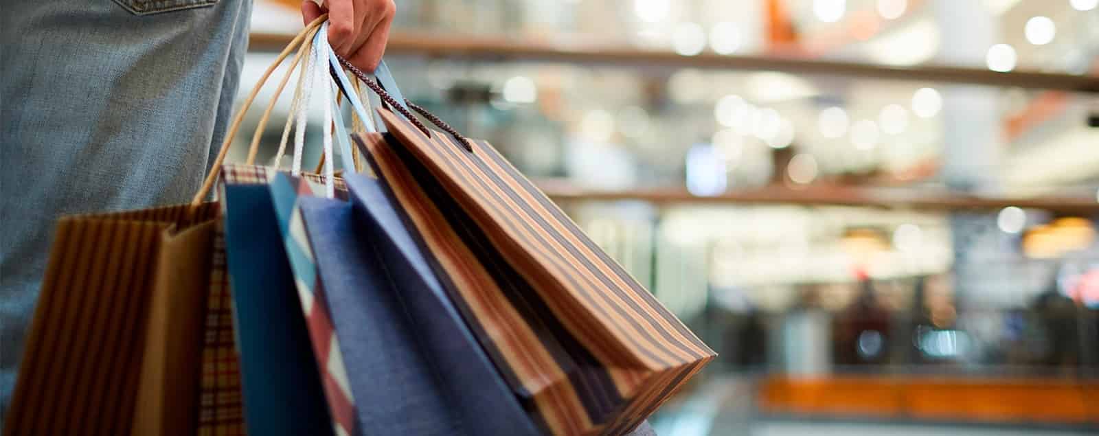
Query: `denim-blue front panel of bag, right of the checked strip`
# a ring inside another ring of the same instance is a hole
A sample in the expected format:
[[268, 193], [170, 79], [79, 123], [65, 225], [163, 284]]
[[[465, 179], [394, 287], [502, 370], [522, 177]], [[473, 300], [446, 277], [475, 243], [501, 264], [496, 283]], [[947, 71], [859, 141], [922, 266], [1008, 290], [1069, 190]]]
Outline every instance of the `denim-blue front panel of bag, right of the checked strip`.
[[298, 199], [364, 435], [458, 435], [462, 423], [420, 353], [376, 235], [343, 201]]

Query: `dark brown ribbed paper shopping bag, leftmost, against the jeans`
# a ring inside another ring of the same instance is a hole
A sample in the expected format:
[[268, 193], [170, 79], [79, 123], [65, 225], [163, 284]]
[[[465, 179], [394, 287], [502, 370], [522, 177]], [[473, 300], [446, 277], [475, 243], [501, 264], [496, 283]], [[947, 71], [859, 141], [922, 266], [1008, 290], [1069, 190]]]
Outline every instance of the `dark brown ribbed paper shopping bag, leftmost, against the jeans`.
[[193, 433], [195, 402], [171, 400], [197, 395], [217, 215], [207, 203], [58, 221], [5, 435]]

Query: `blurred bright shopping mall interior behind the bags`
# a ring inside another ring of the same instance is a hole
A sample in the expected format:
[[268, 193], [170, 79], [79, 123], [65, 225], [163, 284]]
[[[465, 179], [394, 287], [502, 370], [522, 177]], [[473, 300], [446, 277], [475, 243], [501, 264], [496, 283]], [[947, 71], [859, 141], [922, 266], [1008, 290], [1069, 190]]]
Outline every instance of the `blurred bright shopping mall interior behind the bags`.
[[720, 354], [658, 434], [1099, 431], [1099, 0], [397, 4], [404, 96]]

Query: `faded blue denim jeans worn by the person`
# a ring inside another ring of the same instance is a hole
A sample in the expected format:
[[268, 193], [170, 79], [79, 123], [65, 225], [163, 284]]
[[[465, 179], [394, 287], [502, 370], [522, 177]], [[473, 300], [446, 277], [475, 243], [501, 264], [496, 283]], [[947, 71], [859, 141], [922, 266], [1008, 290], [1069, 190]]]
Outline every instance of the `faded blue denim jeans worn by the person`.
[[0, 410], [56, 219], [190, 199], [231, 115], [251, 9], [248, 0], [4, 3]]

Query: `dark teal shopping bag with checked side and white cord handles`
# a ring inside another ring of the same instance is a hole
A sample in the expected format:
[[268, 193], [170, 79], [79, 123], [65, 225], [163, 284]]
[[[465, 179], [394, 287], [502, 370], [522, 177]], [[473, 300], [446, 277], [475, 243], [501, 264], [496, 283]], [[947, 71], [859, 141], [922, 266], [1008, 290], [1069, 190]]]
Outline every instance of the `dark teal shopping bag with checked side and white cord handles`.
[[[334, 177], [333, 137], [329, 128], [322, 128], [324, 156], [330, 157], [323, 165], [325, 176], [301, 174], [306, 110], [318, 78], [323, 78], [315, 90], [323, 102], [324, 127], [332, 123], [334, 114], [329, 103], [333, 100], [332, 85], [328, 79], [331, 52], [328, 47], [328, 23], [317, 27], [313, 33], [299, 34], [304, 40], [295, 58], [295, 65], [300, 59], [307, 62], [302, 64], [299, 87], [291, 102], [292, 112], [297, 115], [291, 172], [322, 185], [325, 195], [334, 197], [337, 186], [341, 191], [344, 189]], [[280, 88], [288, 78], [289, 72]], [[255, 156], [258, 132], [270, 109], [269, 105], [260, 120], [257, 135], [253, 137], [249, 160]], [[290, 120], [284, 128], [276, 163], [285, 149], [289, 125]], [[348, 158], [349, 154], [344, 156]], [[308, 283], [310, 279], [301, 276], [290, 261], [293, 256], [300, 255], [295, 250], [297, 246], [284, 245], [279, 215], [268, 187], [270, 177], [277, 174], [265, 167], [226, 165], [222, 166], [219, 185], [225, 215], [229, 277], [233, 289], [247, 428], [249, 433], [263, 435], [356, 434], [356, 425], [347, 413], [353, 403], [346, 395], [341, 355], [337, 348], [332, 347], [334, 334], [325, 325], [326, 313], [321, 312], [322, 316], [317, 316], [314, 311], [324, 305], [314, 304], [310, 294], [301, 292], [310, 290], [312, 283]], [[301, 264], [297, 267], [300, 268]]]

